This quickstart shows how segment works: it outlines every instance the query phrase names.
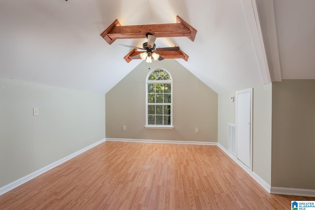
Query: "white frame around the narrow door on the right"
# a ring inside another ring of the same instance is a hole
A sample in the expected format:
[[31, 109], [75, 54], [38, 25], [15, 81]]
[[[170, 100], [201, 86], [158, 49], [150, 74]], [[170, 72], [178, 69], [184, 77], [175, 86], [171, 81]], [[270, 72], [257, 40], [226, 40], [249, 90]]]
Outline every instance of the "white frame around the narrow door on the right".
[[[238, 132], [238, 127], [237, 127], [237, 121], [238, 121], [238, 113], [237, 113], [237, 106], [238, 106], [238, 94], [243, 94], [243, 93], [247, 93], [250, 92], [251, 93], [251, 126], [250, 126], [250, 170], [252, 171], [252, 112], [253, 112], [253, 107], [252, 107], [252, 103], [253, 103], [253, 88], [249, 88], [249, 89], [245, 89], [245, 90], [238, 90], [235, 92], [235, 124], [236, 124], [236, 155], [238, 154], [237, 151], [237, 144], [238, 144], [238, 139], [237, 139], [237, 132]], [[245, 164], [244, 164], [245, 165]]]

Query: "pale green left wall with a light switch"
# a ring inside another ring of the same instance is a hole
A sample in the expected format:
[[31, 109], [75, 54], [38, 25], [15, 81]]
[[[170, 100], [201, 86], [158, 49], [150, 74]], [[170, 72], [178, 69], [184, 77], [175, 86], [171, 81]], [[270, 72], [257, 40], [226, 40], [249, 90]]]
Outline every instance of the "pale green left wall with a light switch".
[[0, 187], [104, 138], [104, 94], [0, 77]]

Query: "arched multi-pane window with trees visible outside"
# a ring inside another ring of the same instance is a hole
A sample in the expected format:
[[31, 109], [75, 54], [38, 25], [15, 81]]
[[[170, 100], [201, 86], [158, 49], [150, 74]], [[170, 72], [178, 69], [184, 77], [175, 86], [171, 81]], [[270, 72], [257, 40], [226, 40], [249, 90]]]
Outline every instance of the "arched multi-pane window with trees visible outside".
[[172, 128], [173, 83], [164, 69], [149, 72], [146, 83], [146, 127]]

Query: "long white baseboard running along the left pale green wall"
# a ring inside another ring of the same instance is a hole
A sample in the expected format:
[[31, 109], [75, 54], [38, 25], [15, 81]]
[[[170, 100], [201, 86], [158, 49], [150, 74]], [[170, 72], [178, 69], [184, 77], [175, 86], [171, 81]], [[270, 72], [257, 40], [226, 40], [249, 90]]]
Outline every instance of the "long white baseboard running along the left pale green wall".
[[43, 168], [33, 172], [32, 174], [29, 174], [29, 175], [27, 175], [25, 177], [22, 177], [19, 180], [15, 180], [15, 181], [13, 181], [13, 182], [11, 182], [11, 183], [1, 187], [0, 188], [0, 195], [2, 195], [4, 193], [14, 189], [15, 187], [20, 186], [21, 184], [24, 184], [25, 182], [27, 182], [29, 180], [34, 179], [35, 177], [37, 177], [37, 176], [39, 176], [39, 175], [41, 175], [41, 174], [43, 174], [43, 173], [45, 173], [45, 172], [55, 168], [56, 166], [58, 166], [58, 165], [60, 165], [60, 164], [62, 164], [64, 162], [70, 160], [71, 158], [73, 158], [73, 157], [75, 157], [75, 156], [77, 156], [77, 155], [79, 155], [79, 154], [81, 154], [81, 153], [83, 153], [83, 152], [85, 152], [87, 150], [90, 150], [91, 148], [94, 148], [95, 146], [97, 146], [97, 145], [99, 145], [99, 144], [101, 144], [101, 143], [103, 143], [105, 141], [106, 141], [106, 139], [102, 139], [102, 140], [100, 140], [98, 142], [95, 142], [94, 144], [92, 144], [92, 145], [90, 145], [90, 146], [88, 146], [86, 148], [83, 148], [81, 150], [78, 150], [78, 151], [76, 151], [76, 152], [74, 152], [74, 153], [72, 153], [72, 154], [70, 154], [70, 155], [68, 155], [66, 157], [63, 157], [62, 159], [57, 160], [56, 162], [51, 163], [51, 164], [49, 164], [49, 165], [47, 165], [47, 166], [45, 166], [45, 167], [43, 167]]

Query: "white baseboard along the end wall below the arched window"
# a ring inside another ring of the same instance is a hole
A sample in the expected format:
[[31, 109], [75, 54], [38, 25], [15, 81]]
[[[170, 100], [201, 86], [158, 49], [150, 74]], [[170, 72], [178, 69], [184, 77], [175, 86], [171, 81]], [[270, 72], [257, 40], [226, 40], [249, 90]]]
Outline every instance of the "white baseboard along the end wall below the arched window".
[[218, 145], [217, 142], [192, 142], [192, 141], [170, 141], [170, 140], [147, 140], [147, 139], [114, 139], [106, 138], [112, 142], [143, 142], [143, 143], [164, 143], [164, 144], [186, 144], [186, 145]]

